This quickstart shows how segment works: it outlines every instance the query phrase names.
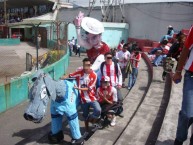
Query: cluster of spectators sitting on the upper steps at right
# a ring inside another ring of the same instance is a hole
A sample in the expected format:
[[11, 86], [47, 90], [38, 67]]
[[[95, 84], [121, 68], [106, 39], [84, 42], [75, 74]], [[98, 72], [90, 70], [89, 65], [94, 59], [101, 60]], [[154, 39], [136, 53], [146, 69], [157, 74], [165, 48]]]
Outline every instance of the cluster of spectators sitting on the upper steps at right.
[[163, 66], [163, 80], [165, 80], [166, 74], [172, 72], [173, 68], [175, 68], [174, 66], [176, 66], [179, 60], [186, 39], [186, 35], [182, 31], [178, 32], [174, 37], [174, 30], [170, 25], [168, 26], [168, 33], [171, 31], [172, 35], [164, 35], [158, 47], [153, 48], [148, 53], [154, 66]]

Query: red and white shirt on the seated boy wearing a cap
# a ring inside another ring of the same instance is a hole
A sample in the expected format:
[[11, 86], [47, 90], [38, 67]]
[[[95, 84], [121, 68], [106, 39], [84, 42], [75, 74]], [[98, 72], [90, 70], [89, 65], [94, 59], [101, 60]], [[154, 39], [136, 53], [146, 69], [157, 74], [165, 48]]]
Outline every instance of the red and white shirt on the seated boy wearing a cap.
[[109, 86], [106, 89], [103, 89], [102, 87], [99, 87], [97, 89], [97, 100], [99, 103], [103, 103], [104, 102], [104, 93], [105, 91], [107, 92], [107, 100], [111, 101], [111, 102], [117, 102], [117, 90], [114, 87]]

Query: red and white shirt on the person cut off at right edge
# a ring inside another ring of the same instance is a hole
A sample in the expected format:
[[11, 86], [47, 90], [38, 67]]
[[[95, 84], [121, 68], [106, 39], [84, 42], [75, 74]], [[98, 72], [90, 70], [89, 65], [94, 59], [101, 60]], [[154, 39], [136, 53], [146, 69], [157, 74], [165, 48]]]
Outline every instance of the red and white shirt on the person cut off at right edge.
[[185, 48], [190, 50], [190, 55], [184, 68], [185, 70], [193, 72], [193, 27], [190, 29], [186, 38]]

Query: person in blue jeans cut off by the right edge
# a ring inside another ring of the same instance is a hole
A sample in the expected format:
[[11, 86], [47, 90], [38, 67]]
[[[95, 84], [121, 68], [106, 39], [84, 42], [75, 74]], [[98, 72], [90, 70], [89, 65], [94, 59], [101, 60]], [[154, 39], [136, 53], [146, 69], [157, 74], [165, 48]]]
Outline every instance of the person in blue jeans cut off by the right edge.
[[[185, 66], [184, 66], [185, 65]], [[173, 81], [179, 83], [182, 79], [182, 70], [185, 69], [182, 106], [178, 117], [178, 126], [174, 145], [182, 145], [187, 139], [188, 128], [193, 123], [193, 27], [186, 38], [180, 55]], [[193, 145], [193, 134], [190, 139]]]

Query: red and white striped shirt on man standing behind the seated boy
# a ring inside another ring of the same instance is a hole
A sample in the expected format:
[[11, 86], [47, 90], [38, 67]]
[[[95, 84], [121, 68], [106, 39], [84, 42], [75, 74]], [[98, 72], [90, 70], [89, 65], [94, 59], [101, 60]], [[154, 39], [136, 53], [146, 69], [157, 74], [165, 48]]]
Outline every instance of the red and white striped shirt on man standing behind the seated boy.
[[[118, 75], [116, 74], [114, 62], [112, 62], [112, 64], [105, 63], [104, 67], [102, 68], [103, 76], [108, 76], [110, 78], [110, 84], [113, 87], [116, 87], [117, 85], [122, 86], [122, 73], [119, 64], [117, 65], [118, 65]], [[99, 76], [102, 76], [101, 71], [99, 71], [98, 73]]]

